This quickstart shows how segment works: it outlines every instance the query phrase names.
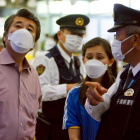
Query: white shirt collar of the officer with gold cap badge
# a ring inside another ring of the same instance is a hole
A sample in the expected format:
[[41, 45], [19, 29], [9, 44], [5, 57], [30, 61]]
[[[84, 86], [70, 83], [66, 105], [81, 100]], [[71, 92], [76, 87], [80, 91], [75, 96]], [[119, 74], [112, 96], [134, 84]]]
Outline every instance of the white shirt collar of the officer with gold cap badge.
[[63, 56], [63, 58], [70, 63], [71, 58], [74, 60], [74, 56], [72, 54], [72, 56], [70, 57], [61, 47], [59, 44], [57, 44], [58, 50], [60, 51], [60, 54]]

